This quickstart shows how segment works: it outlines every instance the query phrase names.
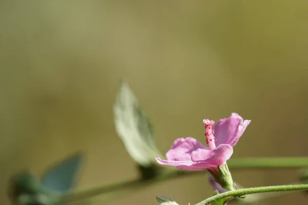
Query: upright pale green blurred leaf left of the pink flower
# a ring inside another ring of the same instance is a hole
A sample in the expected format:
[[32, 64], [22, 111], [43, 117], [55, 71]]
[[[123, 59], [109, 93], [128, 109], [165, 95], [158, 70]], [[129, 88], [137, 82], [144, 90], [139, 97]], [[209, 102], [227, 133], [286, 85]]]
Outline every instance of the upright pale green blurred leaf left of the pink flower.
[[114, 125], [127, 152], [141, 166], [149, 167], [160, 156], [148, 117], [126, 83], [113, 107]]

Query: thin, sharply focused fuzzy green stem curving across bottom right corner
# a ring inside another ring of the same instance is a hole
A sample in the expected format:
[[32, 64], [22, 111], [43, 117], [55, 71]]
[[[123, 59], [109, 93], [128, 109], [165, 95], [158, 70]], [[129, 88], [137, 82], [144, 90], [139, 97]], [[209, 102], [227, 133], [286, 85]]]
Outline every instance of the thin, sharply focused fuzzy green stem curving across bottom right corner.
[[211, 202], [214, 202], [219, 199], [226, 197], [237, 197], [244, 196], [246, 194], [255, 194], [255, 193], [264, 193], [264, 192], [281, 192], [281, 191], [295, 191], [295, 190], [308, 190], [308, 185], [282, 185], [282, 186], [270, 186], [270, 187], [256, 187], [256, 188], [247, 188], [240, 189], [235, 191], [228, 191], [222, 194], [218, 194], [212, 197], [209, 197], [196, 205], [206, 205]]

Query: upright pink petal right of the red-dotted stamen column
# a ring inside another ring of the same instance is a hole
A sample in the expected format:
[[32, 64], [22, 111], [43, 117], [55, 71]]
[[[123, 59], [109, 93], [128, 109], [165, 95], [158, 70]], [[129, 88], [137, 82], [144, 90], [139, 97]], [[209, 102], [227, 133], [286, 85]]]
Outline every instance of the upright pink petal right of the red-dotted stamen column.
[[214, 127], [215, 138], [217, 139], [216, 145], [228, 144], [232, 147], [235, 146], [248, 124], [244, 125], [243, 118], [237, 113], [232, 113], [228, 118], [220, 119]]

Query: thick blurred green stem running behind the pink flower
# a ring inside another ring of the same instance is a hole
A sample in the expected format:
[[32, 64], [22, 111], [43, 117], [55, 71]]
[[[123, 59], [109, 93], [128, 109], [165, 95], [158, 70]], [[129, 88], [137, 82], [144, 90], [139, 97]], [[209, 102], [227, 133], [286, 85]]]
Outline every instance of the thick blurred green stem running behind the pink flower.
[[[276, 169], [276, 168], [302, 168], [308, 167], [308, 157], [273, 157], [273, 158], [241, 158], [230, 159], [227, 161], [230, 170], [239, 169]], [[170, 167], [171, 168], [171, 167]], [[110, 194], [128, 189], [129, 192], [161, 182], [168, 179], [174, 179], [182, 176], [190, 176], [203, 174], [204, 172], [189, 172], [179, 169], [167, 169], [168, 172], [162, 173], [160, 176], [150, 180], [133, 179], [111, 185], [104, 185], [85, 190], [78, 190], [63, 196], [65, 201], [75, 201], [78, 199], [97, 196], [100, 194]], [[109, 198], [107, 198], [109, 199]]]

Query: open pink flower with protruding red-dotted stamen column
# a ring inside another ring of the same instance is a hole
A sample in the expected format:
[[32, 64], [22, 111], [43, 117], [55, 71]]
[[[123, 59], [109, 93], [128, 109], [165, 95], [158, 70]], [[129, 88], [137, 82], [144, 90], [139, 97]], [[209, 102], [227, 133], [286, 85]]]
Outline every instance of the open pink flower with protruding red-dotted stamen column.
[[182, 170], [216, 172], [217, 166], [224, 165], [231, 157], [233, 147], [251, 120], [243, 120], [237, 113], [232, 113], [229, 118], [220, 119], [214, 128], [213, 120], [204, 119], [203, 122], [208, 147], [192, 137], [179, 138], [167, 152], [167, 160], [156, 158], [157, 162]]

